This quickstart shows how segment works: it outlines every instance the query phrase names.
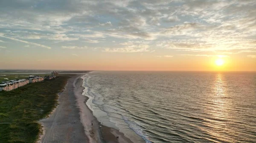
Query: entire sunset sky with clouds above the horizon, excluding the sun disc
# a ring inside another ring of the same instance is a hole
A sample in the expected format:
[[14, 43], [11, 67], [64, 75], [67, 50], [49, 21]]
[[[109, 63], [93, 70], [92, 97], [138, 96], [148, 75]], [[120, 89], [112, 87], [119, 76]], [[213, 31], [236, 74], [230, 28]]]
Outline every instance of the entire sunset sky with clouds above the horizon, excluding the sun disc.
[[256, 71], [256, 0], [1, 0], [0, 69]]

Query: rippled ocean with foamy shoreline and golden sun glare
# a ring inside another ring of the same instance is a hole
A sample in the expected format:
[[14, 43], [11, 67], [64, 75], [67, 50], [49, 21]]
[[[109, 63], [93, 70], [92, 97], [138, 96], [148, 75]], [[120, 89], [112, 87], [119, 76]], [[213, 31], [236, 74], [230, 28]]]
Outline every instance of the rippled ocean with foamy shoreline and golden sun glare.
[[256, 73], [94, 71], [83, 79], [93, 115], [134, 143], [256, 142]]

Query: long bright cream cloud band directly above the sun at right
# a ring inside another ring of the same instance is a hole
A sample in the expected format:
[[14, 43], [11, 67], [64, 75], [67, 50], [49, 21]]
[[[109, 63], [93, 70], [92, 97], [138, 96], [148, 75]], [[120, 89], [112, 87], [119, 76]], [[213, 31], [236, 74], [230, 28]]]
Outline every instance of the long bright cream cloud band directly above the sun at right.
[[156, 42], [159, 48], [173, 49], [177, 51], [205, 52], [212, 51], [217, 53], [229, 52], [232, 50], [253, 51], [256, 43], [250, 39], [230, 38], [222, 39], [218, 37], [202, 37], [196, 39], [178, 39], [164, 40]]

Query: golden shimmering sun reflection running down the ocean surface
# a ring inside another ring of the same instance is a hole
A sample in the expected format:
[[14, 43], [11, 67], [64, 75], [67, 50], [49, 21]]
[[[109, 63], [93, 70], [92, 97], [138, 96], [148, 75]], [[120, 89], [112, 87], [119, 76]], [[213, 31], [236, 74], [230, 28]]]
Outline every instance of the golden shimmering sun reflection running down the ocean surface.
[[211, 104], [205, 109], [205, 112], [207, 112], [209, 116], [204, 122], [204, 125], [208, 126], [209, 129], [204, 132], [207, 132], [211, 137], [217, 137], [219, 141], [232, 142], [229, 138], [229, 133], [231, 133], [232, 130], [227, 127], [230, 101], [224, 75], [218, 73], [212, 85], [212, 94], [208, 97], [208, 101]]

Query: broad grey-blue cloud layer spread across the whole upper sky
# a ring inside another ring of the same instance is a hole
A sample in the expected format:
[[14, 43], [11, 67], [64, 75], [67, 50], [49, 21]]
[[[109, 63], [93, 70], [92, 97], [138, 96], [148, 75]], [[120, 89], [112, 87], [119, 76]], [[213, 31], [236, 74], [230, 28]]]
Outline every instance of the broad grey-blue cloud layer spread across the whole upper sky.
[[[81, 47], [93, 43], [101, 47], [98, 50], [109, 52], [169, 49], [204, 55], [205, 52], [240, 54], [256, 49], [255, 0], [58, 2], [1, 3], [0, 28], [12, 29], [1, 31], [1, 37], [44, 48], [50, 47], [37, 44], [38, 41], [58, 46], [74, 41], [73, 45]], [[142, 42], [131, 42], [134, 40]], [[151, 48], [128, 47], [132, 45]]]

